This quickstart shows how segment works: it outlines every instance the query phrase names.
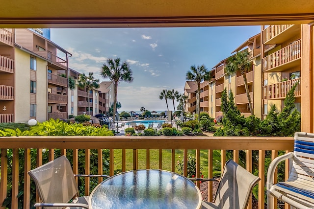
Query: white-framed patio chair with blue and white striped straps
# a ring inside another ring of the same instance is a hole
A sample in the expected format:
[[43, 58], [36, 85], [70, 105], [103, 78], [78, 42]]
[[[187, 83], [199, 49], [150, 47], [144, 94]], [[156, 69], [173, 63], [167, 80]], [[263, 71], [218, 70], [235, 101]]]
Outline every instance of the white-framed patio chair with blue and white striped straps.
[[[289, 178], [274, 184], [275, 169], [289, 159]], [[267, 172], [267, 206], [273, 209], [276, 197], [298, 209], [314, 208], [314, 134], [296, 132], [294, 151], [275, 158]]]

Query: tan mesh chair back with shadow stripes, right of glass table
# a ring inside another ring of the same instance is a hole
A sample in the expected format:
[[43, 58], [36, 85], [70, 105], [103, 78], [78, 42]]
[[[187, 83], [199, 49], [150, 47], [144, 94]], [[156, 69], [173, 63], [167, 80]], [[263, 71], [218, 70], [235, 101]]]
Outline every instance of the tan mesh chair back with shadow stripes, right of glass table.
[[253, 187], [260, 178], [229, 160], [223, 170], [215, 204], [219, 209], [246, 209]]

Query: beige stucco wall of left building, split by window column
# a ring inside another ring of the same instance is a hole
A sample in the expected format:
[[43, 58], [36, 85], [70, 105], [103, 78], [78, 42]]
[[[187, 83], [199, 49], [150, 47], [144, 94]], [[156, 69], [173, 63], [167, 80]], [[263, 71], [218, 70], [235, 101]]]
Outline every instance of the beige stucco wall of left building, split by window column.
[[[27, 122], [30, 119], [30, 55], [15, 48], [15, 122]], [[47, 119], [47, 62], [36, 58], [36, 120]]]

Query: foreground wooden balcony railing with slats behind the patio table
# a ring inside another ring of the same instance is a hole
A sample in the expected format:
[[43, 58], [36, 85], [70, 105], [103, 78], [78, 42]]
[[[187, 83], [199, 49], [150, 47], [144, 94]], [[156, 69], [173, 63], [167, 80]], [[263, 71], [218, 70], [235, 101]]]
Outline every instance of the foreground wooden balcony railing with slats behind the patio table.
[[[73, 155], [73, 171], [78, 174], [78, 163], [85, 165], [85, 174], [90, 174], [91, 160], [98, 162], [98, 174], [103, 174], [105, 163], [103, 158], [103, 149], [109, 151], [109, 175], [114, 174], [115, 169], [121, 169], [122, 172], [135, 169], [164, 169], [176, 172], [176, 164], [178, 154], [176, 151], [181, 151], [183, 156], [183, 175], [187, 176], [187, 161], [188, 150], [192, 150], [196, 158], [196, 178], [200, 177], [200, 160], [202, 155], [208, 156], [208, 176], [204, 178], [213, 177], [213, 151], [219, 150], [221, 157], [219, 162], [221, 167], [216, 169], [222, 170], [227, 159], [227, 150], [233, 153], [233, 160], [239, 162], [239, 151], [244, 152], [245, 159], [244, 166], [249, 172], [255, 172], [254, 168], [258, 170], [259, 177], [262, 179], [259, 182], [259, 209], [264, 209], [264, 188], [265, 188], [265, 151], [271, 152], [271, 158], [274, 159], [278, 155], [278, 150], [291, 151], [293, 150], [292, 137], [2, 137], [0, 138], [1, 151], [1, 178], [0, 178], [0, 205], [7, 197], [7, 188], [12, 188], [12, 208], [18, 208], [20, 195], [18, 195], [19, 188], [24, 193], [24, 209], [29, 209], [30, 204], [30, 176], [27, 172], [32, 166], [40, 166], [43, 163], [43, 152], [48, 152], [49, 160], [55, 157], [56, 149], [60, 151], [61, 155], [71, 153]], [[8, 149], [12, 155], [8, 155]], [[78, 158], [78, 149], [83, 150], [85, 156]], [[91, 149], [96, 149], [96, 155], [90, 155]], [[19, 152], [20, 151], [20, 152]], [[115, 152], [122, 156], [122, 161], [115, 161]], [[252, 155], [254, 151], [254, 155]], [[131, 152], [131, 153], [130, 153]], [[164, 162], [163, 155], [171, 153], [171, 161]], [[216, 151], [215, 151], [216, 152]], [[19, 159], [19, 153], [24, 153], [25, 161]], [[36, 154], [31, 154], [36, 153]], [[132, 155], [131, 162], [126, 161], [126, 153]], [[139, 153], [145, 157], [139, 158]], [[154, 154], [153, 154], [154, 153]], [[269, 152], [267, 152], [269, 153]], [[258, 157], [256, 157], [256, 155]], [[150, 159], [154, 157], [158, 159], [157, 164], [151, 164]], [[9, 158], [9, 159], [8, 159]], [[96, 159], [93, 159], [96, 158]], [[80, 162], [79, 160], [80, 159]], [[219, 157], [218, 157], [219, 159]], [[9, 160], [9, 163], [8, 163]], [[217, 158], [215, 158], [217, 160]], [[82, 162], [83, 161], [83, 162]], [[139, 163], [140, 162], [140, 163]], [[21, 163], [21, 164], [20, 164]], [[215, 163], [216, 164], [216, 163]], [[23, 166], [22, 166], [23, 165]], [[288, 160], [285, 165], [288, 168]], [[19, 168], [24, 167], [23, 173], [19, 172]], [[288, 169], [286, 169], [288, 170]], [[12, 171], [12, 181], [8, 182], [8, 173]], [[81, 173], [80, 173], [81, 174]], [[94, 173], [95, 174], [95, 173]], [[22, 181], [19, 176], [24, 176]], [[288, 172], [284, 174], [288, 178]], [[277, 177], [277, 176], [276, 176]], [[99, 179], [101, 182], [102, 179]], [[209, 182], [208, 199], [212, 200], [212, 183]], [[196, 182], [200, 186], [200, 182]], [[90, 178], [85, 178], [85, 195], [89, 195]], [[24, 188], [24, 189], [23, 189]], [[250, 201], [251, 202], [251, 201]], [[249, 209], [252, 205], [249, 204]]]

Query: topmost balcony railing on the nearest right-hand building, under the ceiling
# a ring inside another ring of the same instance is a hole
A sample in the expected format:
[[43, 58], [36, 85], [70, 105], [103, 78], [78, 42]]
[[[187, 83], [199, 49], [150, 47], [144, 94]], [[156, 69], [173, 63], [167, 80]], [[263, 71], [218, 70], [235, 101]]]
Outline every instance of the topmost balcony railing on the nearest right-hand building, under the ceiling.
[[[289, 30], [289, 28], [292, 28], [293, 24], [280, 24], [280, 25], [269, 25], [266, 27], [262, 33], [263, 33], [263, 44], [278, 44], [280, 42], [273, 40], [275, 37], [281, 35], [285, 31]], [[291, 32], [290, 32], [290, 37]]]

